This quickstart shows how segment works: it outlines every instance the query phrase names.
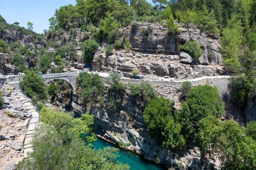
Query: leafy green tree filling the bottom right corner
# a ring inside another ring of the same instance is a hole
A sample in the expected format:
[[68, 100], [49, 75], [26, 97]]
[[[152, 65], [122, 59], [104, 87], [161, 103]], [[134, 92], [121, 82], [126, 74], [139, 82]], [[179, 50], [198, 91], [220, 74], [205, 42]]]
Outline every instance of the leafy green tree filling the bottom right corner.
[[255, 169], [256, 144], [246, 136], [245, 128], [230, 120], [220, 122], [214, 116], [200, 121], [197, 134], [198, 144], [203, 154], [221, 151], [220, 162], [223, 169]]

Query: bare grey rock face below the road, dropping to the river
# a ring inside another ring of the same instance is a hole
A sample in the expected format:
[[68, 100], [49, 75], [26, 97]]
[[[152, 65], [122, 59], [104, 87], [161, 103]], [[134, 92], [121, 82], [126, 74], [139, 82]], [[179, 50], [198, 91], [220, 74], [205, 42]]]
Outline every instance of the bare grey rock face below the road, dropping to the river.
[[[125, 80], [123, 80], [125, 83]], [[135, 80], [134, 80], [135, 82]], [[138, 83], [139, 81], [136, 81]], [[130, 83], [133, 83], [132, 81]], [[135, 84], [136, 84], [135, 83]], [[228, 80], [205, 79], [192, 82], [193, 85], [209, 83], [218, 86], [220, 94], [224, 95], [227, 90]], [[175, 101], [180, 100], [181, 82], [162, 84], [155, 82], [152, 84], [158, 95]], [[222, 86], [222, 87], [221, 87]], [[204, 160], [200, 157], [199, 149], [193, 144], [185, 151], [164, 150], [158, 147], [146, 129], [143, 121], [144, 104], [140, 96], [131, 96], [128, 91], [123, 94], [111, 96], [120, 98], [120, 103], [109, 107], [109, 93], [105, 91], [102, 103], [86, 104], [82, 103], [80, 96], [73, 94], [72, 110], [79, 115], [89, 112], [94, 115], [94, 131], [104, 139], [112, 141], [120, 147], [139, 153], [148, 160], [160, 159], [160, 163], [167, 168], [177, 169], [209, 169], [219, 168], [220, 163], [216, 158], [215, 162]], [[175, 106], [177, 107], [177, 106]], [[177, 153], [177, 154], [176, 154]], [[216, 156], [217, 157], [217, 156]]]

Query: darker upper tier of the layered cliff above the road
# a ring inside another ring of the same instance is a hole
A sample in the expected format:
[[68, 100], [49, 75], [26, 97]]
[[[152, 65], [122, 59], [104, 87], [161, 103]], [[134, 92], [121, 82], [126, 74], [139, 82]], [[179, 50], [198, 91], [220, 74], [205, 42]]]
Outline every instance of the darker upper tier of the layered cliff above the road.
[[[184, 28], [183, 24], [179, 24], [181, 33], [169, 34], [167, 26], [163, 26], [164, 24], [137, 23], [138, 26], [135, 28], [128, 26], [122, 29], [123, 39], [128, 37], [130, 45], [134, 51], [178, 54], [179, 44], [183, 44], [189, 40], [196, 40], [203, 49], [203, 54], [199, 58], [200, 64], [222, 64], [219, 37], [209, 37], [206, 33], [190, 24], [187, 28]], [[208, 51], [213, 53], [210, 62], [207, 57]]]

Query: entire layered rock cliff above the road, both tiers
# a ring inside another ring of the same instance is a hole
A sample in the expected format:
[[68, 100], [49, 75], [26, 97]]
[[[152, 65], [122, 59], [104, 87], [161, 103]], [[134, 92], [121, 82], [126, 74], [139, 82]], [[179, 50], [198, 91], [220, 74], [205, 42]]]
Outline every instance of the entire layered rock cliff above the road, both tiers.
[[[125, 27], [120, 41], [129, 39], [131, 52], [115, 51], [110, 56], [104, 55], [100, 48], [95, 53], [92, 68], [97, 71], [117, 72], [129, 77], [132, 70], [141, 74], [168, 75], [177, 79], [215, 76], [225, 73], [218, 37], [208, 37], [198, 28], [189, 25], [179, 27], [181, 33], [169, 34], [167, 27], [161, 24], [140, 23], [135, 28]], [[189, 40], [197, 40], [203, 54], [197, 60], [180, 52], [178, 46]], [[211, 55], [208, 55], [211, 51]], [[103, 60], [98, 61], [102, 55]]]

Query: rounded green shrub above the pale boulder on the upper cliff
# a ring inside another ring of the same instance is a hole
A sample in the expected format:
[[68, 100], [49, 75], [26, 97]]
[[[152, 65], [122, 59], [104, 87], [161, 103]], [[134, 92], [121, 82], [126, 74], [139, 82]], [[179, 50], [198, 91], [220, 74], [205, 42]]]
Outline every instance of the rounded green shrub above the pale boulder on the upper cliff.
[[198, 41], [187, 41], [185, 44], [180, 45], [179, 48], [188, 53], [192, 58], [199, 58], [202, 55], [202, 49]]

